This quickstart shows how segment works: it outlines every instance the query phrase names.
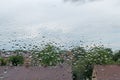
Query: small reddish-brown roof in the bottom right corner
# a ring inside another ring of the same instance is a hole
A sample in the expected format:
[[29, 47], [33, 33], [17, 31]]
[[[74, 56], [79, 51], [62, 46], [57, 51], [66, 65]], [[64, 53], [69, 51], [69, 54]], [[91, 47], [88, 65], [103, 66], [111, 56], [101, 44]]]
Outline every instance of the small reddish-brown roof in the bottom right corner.
[[96, 65], [97, 80], [120, 80], [120, 65]]

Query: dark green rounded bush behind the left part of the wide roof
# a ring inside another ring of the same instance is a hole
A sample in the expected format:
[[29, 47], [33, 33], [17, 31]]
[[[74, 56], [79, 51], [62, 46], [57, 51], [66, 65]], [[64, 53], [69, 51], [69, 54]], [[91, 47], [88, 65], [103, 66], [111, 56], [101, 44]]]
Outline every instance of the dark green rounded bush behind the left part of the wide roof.
[[22, 65], [24, 63], [24, 57], [22, 55], [10, 56], [9, 61], [13, 66]]

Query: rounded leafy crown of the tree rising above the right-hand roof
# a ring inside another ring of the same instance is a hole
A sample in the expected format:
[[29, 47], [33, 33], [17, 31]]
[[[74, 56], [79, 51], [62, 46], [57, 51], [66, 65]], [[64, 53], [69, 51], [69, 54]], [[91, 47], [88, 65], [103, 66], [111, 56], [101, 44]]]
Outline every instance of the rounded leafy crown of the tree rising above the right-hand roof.
[[112, 63], [112, 51], [104, 47], [93, 47], [85, 55], [88, 64], [110, 64]]

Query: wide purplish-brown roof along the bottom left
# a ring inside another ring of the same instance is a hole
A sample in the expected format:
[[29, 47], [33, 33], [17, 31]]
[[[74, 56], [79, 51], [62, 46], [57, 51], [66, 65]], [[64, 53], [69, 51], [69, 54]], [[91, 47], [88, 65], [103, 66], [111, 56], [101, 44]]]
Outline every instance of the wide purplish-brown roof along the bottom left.
[[0, 78], [4, 78], [2, 80], [72, 80], [72, 73], [69, 66], [0, 67]]

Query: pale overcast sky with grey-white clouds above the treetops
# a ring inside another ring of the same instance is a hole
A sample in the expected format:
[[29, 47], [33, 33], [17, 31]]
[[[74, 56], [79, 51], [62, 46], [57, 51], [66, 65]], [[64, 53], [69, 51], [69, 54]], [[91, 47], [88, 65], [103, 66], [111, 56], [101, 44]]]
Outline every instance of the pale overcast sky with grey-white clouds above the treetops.
[[119, 21], [119, 0], [0, 0], [1, 48], [8, 48], [10, 40], [46, 36], [63, 44], [83, 40], [120, 49]]

